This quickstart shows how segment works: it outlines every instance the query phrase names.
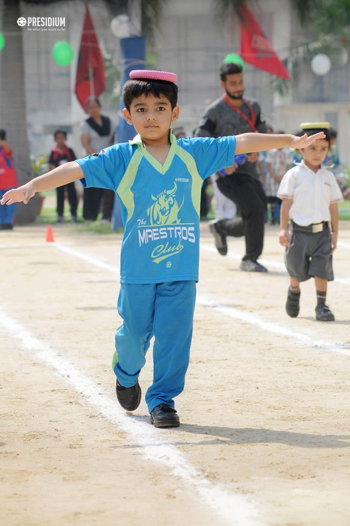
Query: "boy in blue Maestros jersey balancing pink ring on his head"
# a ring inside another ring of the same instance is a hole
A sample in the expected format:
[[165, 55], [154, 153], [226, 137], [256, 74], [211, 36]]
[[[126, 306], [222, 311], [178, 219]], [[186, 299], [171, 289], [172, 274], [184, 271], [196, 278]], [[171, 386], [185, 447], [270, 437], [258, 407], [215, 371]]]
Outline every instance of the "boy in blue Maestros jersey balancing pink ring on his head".
[[125, 228], [118, 299], [123, 323], [116, 331], [113, 356], [116, 396], [128, 411], [139, 406], [138, 378], [154, 336], [154, 377], [146, 392], [151, 423], [177, 427], [173, 399], [183, 391], [189, 361], [204, 179], [233, 166], [235, 153], [304, 148], [324, 134], [176, 140], [170, 129], [179, 115], [176, 75], [141, 70], [130, 76], [123, 88], [123, 113], [138, 135], [129, 144], [59, 166], [8, 191], [1, 204], [27, 204], [36, 191], [77, 179], [87, 187], [116, 191]]

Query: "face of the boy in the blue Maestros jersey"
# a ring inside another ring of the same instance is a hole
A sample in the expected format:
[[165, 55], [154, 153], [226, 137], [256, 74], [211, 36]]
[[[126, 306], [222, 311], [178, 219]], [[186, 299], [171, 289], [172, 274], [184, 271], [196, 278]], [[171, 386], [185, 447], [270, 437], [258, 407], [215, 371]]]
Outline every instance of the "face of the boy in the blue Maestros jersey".
[[179, 107], [172, 109], [170, 101], [161, 95], [141, 95], [134, 98], [130, 112], [123, 109], [128, 124], [133, 124], [135, 130], [144, 139], [158, 140], [168, 134], [171, 123], [178, 119]]

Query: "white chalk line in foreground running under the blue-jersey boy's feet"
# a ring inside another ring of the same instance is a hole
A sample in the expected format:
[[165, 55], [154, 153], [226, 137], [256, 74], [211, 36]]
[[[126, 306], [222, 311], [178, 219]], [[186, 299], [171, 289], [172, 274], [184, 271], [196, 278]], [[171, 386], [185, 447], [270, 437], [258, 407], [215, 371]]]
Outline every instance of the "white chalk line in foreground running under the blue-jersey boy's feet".
[[[84, 376], [65, 358], [58, 356], [55, 349], [33, 336], [1, 308], [0, 326], [8, 332], [10, 337], [18, 340], [22, 349], [29, 351], [32, 358], [43, 361], [47, 366], [54, 368], [78, 393], [86, 397], [84, 401], [96, 407], [104, 417], [128, 433], [128, 440], [140, 446], [139, 451], [146, 459], [165, 464], [176, 477], [181, 477], [197, 493], [201, 501], [218, 513], [227, 524], [232, 526], [261, 525], [258, 519], [257, 504], [251, 498], [230, 493], [204, 478], [203, 474], [186, 460], [181, 451], [167, 443], [168, 436], [166, 437], [164, 432], [155, 430], [149, 423], [140, 422], [136, 417], [126, 416], [115, 400], [101, 395], [101, 388], [95, 385], [90, 378]], [[172, 433], [171, 439], [173, 438]]]

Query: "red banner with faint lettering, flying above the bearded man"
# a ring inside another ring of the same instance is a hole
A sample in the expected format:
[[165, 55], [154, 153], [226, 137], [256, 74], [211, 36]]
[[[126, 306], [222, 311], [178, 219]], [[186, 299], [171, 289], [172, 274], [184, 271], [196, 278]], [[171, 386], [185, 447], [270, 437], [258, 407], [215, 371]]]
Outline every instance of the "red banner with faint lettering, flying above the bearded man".
[[241, 44], [238, 54], [253, 66], [272, 75], [290, 80], [287, 69], [274, 52], [271, 42], [246, 5], [240, 7], [243, 20], [240, 22]]

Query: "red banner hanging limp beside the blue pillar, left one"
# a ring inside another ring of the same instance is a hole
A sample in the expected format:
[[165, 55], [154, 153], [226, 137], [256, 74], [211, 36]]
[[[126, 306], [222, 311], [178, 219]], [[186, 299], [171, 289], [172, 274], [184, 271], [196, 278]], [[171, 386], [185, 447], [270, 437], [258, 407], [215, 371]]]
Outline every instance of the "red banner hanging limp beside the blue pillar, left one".
[[98, 97], [105, 87], [103, 58], [89, 8], [86, 6], [76, 78], [76, 95], [84, 111], [87, 99], [90, 96]]

